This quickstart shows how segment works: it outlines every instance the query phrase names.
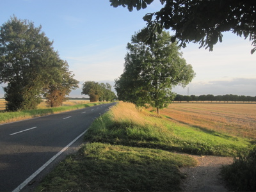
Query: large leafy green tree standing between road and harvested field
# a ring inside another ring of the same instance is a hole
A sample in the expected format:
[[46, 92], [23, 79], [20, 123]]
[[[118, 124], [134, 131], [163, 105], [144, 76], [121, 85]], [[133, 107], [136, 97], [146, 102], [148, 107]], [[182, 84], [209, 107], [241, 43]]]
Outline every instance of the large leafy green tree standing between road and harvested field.
[[133, 102], [137, 106], [148, 104], [157, 109], [168, 106], [175, 94], [172, 87], [186, 86], [195, 77], [191, 65], [182, 58], [180, 48], [171, 43], [168, 32], [157, 35], [150, 45], [133, 35], [127, 44], [124, 73], [115, 80], [118, 99]]

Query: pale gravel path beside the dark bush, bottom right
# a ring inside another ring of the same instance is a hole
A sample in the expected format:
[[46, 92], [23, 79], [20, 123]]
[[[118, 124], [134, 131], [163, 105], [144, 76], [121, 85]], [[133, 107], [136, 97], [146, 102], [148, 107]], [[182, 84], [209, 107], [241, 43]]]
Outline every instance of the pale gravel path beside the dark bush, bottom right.
[[182, 191], [228, 191], [221, 181], [220, 168], [231, 164], [232, 157], [191, 157], [198, 161], [198, 165], [193, 168], [180, 168], [180, 172], [186, 174], [186, 179], [182, 182]]

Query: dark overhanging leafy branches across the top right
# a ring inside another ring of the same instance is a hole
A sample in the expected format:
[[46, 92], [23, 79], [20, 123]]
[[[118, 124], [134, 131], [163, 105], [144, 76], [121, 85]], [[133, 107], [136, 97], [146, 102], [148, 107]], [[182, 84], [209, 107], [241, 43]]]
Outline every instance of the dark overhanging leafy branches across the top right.
[[[110, 0], [111, 6], [127, 6], [131, 12], [133, 8], [140, 10], [154, 0]], [[212, 51], [217, 42], [222, 42], [222, 33], [232, 31], [244, 36], [256, 46], [256, 1], [225, 0], [160, 0], [163, 8], [159, 12], [148, 13], [143, 17], [147, 28], [141, 31], [141, 39], [151, 43], [156, 40], [156, 32], [163, 28], [172, 29], [176, 39], [182, 47], [188, 42], [200, 43], [200, 47]], [[251, 51], [256, 51], [254, 47]]]

